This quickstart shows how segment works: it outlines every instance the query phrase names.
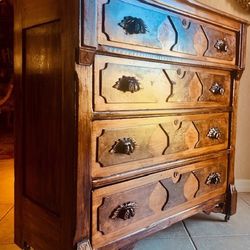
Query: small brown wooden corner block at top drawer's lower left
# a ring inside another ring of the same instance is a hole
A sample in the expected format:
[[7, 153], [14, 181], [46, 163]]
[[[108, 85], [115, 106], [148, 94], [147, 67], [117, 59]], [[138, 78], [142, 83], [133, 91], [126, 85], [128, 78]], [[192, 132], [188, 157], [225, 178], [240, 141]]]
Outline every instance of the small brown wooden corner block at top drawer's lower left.
[[96, 48], [79, 47], [76, 51], [76, 62], [80, 65], [90, 66], [94, 62]]

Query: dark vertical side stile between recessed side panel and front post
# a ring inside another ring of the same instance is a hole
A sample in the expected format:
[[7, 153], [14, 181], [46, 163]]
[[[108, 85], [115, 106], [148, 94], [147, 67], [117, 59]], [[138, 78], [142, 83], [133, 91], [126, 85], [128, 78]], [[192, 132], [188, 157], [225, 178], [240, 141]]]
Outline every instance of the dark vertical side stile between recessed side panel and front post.
[[79, 3], [63, 0], [60, 5], [62, 22], [62, 148], [63, 171], [61, 181], [60, 248], [72, 249], [76, 222], [76, 166], [77, 166], [77, 81], [75, 76], [75, 48], [79, 37]]

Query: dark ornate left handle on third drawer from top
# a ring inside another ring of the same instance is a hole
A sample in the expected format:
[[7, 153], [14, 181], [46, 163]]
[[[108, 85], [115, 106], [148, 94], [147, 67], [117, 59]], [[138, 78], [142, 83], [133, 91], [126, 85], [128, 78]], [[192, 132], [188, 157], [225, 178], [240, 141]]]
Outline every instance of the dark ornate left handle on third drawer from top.
[[136, 141], [133, 138], [123, 138], [115, 142], [110, 150], [110, 153], [130, 155], [134, 152], [135, 147]]

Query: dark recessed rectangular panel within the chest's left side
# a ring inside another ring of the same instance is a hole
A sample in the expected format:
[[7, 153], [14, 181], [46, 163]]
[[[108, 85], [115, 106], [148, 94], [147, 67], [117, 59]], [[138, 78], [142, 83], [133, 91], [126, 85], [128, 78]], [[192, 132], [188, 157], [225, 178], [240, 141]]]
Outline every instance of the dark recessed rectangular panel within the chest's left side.
[[58, 214], [61, 176], [60, 23], [24, 33], [25, 194]]

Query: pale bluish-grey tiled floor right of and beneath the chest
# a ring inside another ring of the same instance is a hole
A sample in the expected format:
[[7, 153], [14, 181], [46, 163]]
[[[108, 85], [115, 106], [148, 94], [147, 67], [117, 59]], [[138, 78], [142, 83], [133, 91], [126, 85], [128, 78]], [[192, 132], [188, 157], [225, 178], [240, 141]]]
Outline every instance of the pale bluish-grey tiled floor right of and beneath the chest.
[[137, 243], [134, 250], [249, 250], [250, 193], [240, 193], [237, 214], [197, 214]]

